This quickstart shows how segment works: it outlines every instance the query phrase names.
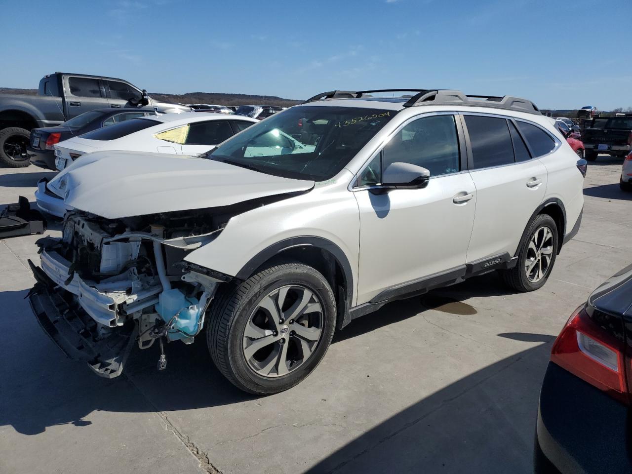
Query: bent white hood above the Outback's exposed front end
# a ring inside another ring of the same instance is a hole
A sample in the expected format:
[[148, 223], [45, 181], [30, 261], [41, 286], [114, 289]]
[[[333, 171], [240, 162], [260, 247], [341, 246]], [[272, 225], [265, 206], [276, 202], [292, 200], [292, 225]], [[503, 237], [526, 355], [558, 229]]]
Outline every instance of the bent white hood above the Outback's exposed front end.
[[118, 219], [226, 206], [313, 185], [203, 158], [105, 151], [83, 155], [49, 188], [76, 209]]

